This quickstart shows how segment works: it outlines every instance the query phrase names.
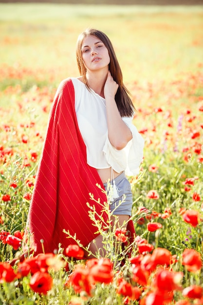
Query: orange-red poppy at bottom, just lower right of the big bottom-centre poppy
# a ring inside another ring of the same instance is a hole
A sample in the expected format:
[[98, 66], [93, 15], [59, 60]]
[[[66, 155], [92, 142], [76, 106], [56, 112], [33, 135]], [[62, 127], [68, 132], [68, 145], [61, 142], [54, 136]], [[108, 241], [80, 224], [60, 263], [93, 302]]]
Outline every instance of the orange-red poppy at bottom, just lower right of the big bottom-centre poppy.
[[125, 297], [129, 297], [133, 301], [139, 300], [141, 296], [141, 289], [138, 287], [133, 287], [124, 279], [120, 279], [116, 292]]

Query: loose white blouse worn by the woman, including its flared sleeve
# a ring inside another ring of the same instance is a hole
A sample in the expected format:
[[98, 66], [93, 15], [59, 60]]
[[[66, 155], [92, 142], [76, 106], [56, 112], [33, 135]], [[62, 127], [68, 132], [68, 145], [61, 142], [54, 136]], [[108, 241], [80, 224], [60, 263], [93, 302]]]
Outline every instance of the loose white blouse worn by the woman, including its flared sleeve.
[[112, 167], [115, 172], [137, 175], [143, 158], [144, 139], [132, 123], [133, 117], [122, 117], [132, 139], [122, 150], [115, 149], [108, 137], [105, 98], [89, 91], [79, 79], [72, 77], [78, 127], [87, 148], [87, 163], [96, 169]]

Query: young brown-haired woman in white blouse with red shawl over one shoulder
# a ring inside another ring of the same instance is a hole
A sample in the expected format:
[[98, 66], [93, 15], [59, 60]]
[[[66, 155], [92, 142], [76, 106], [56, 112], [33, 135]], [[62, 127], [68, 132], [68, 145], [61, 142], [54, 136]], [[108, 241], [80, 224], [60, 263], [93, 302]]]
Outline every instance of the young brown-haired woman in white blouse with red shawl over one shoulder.
[[93, 254], [102, 248], [87, 206], [94, 205], [97, 220], [108, 229], [103, 209], [107, 196], [98, 185], [107, 191], [118, 225], [128, 224], [134, 234], [128, 221], [132, 193], [126, 174], [138, 174], [144, 147], [132, 124], [134, 106], [103, 32], [82, 33], [76, 58], [80, 76], [63, 80], [55, 95], [28, 214], [25, 248], [29, 241], [36, 254], [42, 252], [42, 243], [45, 252], [59, 243], [62, 248], [74, 244], [64, 229], [82, 245], [90, 244]]

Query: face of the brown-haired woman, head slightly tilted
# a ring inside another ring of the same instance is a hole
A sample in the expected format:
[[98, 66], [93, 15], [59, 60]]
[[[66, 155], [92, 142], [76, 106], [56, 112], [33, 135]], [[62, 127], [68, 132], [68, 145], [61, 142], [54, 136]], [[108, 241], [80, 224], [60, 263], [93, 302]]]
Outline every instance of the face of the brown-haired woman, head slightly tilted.
[[110, 56], [105, 44], [96, 36], [90, 35], [82, 42], [82, 59], [87, 70], [109, 70]]

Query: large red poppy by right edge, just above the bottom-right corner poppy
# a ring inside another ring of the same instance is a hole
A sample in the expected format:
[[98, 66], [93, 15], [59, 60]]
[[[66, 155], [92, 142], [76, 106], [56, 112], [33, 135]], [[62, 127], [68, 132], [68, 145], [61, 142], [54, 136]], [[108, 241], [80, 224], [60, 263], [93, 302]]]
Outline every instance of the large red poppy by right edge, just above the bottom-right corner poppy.
[[183, 252], [182, 265], [186, 267], [188, 271], [198, 272], [202, 267], [201, 255], [194, 249], [185, 249]]

